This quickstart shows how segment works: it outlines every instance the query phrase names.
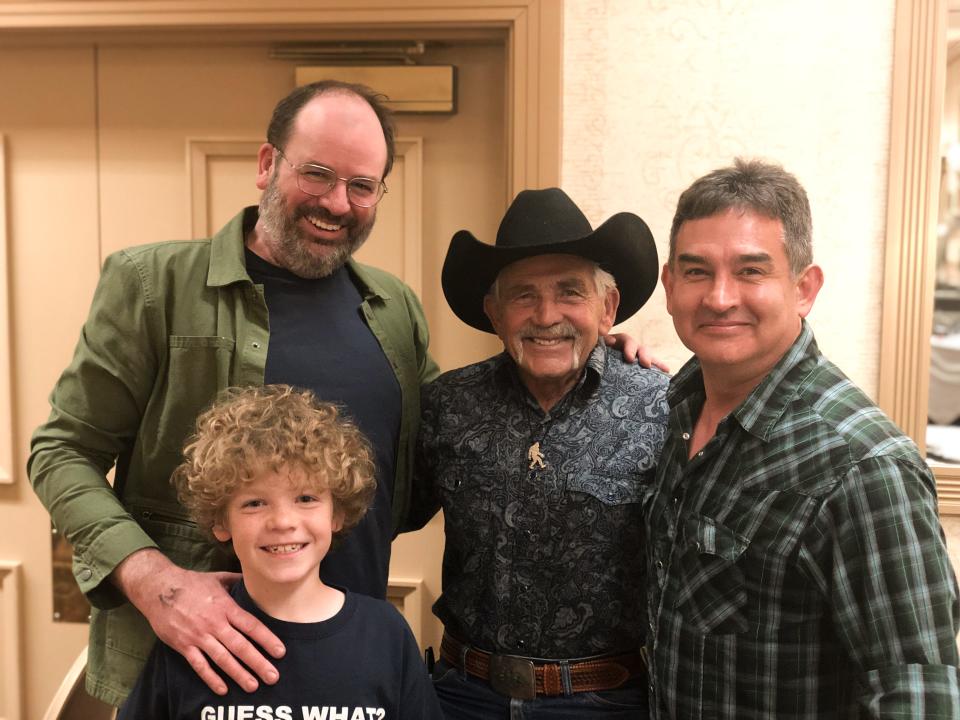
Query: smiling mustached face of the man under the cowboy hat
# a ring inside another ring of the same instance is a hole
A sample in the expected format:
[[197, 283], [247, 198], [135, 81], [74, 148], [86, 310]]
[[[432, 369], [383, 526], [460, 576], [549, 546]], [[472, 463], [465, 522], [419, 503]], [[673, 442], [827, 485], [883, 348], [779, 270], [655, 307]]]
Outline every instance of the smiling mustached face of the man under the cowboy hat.
[[595, 269], [575, 255], [518, 260], [500, 272], [496, 297], [485, 298], [484, 311], [528, 387], [572, 385], [613, 326], [620, 294], [600, 294]]

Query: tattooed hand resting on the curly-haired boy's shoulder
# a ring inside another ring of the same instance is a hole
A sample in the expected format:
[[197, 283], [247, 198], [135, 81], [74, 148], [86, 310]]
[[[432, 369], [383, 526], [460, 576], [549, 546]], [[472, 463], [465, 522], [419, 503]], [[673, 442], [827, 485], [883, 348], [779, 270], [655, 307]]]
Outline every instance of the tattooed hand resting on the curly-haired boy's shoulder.
[[275, 658], [286, 652], [276, 635], [227, 594], [226, 588], [240, 577], [185, 570], [157, 550], [133, 553], [113, 573], [115, 584], [144, 614], [157, 637], [183, 655], [218, 695], [226, 694], [227, 686], [211, 661], [253, 692], [257, 679], [244, 666], [269, 685], [280, 675], [250, 641]]

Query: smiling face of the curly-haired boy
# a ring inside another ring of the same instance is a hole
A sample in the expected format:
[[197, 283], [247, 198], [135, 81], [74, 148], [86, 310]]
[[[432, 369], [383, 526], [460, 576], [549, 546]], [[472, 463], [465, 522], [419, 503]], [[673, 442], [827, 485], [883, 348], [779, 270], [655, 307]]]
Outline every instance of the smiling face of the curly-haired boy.
[[264, 471], [244, 483], [213, 527], [221, 542], [232, 541], [248, 587], [295, 592], [319, 583], [320, 561], [343, 519], [329, 490], [299, 469]]

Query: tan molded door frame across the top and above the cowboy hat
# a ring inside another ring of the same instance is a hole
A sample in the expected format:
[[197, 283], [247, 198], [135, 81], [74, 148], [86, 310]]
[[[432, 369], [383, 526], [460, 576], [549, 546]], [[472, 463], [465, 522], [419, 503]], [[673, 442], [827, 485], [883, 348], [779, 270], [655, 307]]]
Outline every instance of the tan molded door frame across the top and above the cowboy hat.
[[182, 39], [322, 33], [418, 38], [501, 34], [506, 43], [507, 189], [560, 184], [562, 0], [102, 0], [0, 3], [0, 39]]

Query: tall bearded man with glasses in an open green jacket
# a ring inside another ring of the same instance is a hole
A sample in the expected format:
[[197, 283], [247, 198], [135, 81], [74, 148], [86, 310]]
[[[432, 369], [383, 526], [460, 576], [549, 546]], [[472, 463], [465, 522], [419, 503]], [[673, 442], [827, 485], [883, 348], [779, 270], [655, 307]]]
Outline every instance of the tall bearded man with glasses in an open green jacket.
[[218, 694], [221, 673], [247, 690], [276, 682], [251, 640], [274, 657], [283, 645], [229, 598], [238, 568], [189, 521], [169, 482], [196, 416], [228, 386], [312, 389], [371, 439], [374, 510], [321, 574], [384, 597], [409, 505], [420, 386], [437, 374], [416, 296], [351, 259], [393, 156], [393, 124], [375, 93], [333, 81], [298, 88], [275, 108], [259, 150], [259, 208], [212, 238], [141, 245], [105, 262], [28, 464], [93, 605], [95, 697], [123, 701], [154, 634]]

